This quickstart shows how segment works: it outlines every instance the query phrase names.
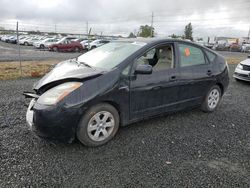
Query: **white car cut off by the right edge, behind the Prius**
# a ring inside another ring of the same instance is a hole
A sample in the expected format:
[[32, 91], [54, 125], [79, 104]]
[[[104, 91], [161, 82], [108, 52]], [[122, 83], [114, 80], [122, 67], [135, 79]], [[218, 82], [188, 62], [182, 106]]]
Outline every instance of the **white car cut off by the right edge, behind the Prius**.
[[248, 56], [248, 59], [240, 62], [237, 65], [233, 77], [236, 80], [243, 80], [250, 82], [250, 55]]

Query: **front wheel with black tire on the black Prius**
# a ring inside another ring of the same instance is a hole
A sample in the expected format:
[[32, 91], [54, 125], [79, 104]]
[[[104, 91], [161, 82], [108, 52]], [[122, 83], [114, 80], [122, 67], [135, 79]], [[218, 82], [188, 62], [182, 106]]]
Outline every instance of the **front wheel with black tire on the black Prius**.
[[85, 146], [101, 146], [115, 136], [119, 119], [119, 114], [113, 106], [107, 103], [95, 105], [87, 110], [80, 120], [76, 136]]

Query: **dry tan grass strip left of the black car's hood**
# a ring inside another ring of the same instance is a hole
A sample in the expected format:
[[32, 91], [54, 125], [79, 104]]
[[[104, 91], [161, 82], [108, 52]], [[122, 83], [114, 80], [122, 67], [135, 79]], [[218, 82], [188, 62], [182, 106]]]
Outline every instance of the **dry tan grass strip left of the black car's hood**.
[[[58, 60], [48, 61], [23, 61], [22, 77], [41, 77], [45, 75], [50, 67]], [[10, 80], [21, 78], [19, 62], [0, 62], [0, 80]]]

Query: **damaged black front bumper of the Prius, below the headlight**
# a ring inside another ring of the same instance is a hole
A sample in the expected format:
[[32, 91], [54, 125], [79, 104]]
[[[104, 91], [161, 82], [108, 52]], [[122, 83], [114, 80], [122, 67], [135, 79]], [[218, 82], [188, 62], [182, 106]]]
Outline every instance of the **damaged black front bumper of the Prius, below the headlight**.
[[81, 117], [79, 109], [63, 105], [46, 106], [37, 103], [37, 99], [37, 96], [32, 98], [26, 112], [29, 129], [41, 138], [72, 142]]

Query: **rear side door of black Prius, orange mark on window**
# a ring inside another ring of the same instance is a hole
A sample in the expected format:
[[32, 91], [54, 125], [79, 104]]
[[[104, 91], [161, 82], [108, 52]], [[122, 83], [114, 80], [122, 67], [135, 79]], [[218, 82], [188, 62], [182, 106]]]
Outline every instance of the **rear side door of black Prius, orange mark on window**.
[[212, 64], [202, 47], [178, 43], [180, 69], [180, 100], [188, 106], [201, 103], [208, 89], [214, 84]]

